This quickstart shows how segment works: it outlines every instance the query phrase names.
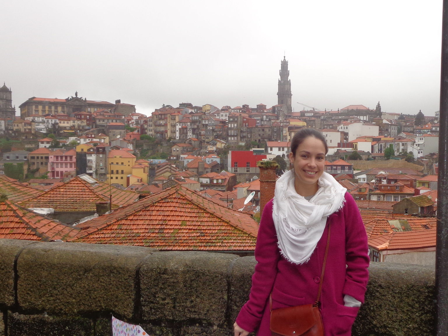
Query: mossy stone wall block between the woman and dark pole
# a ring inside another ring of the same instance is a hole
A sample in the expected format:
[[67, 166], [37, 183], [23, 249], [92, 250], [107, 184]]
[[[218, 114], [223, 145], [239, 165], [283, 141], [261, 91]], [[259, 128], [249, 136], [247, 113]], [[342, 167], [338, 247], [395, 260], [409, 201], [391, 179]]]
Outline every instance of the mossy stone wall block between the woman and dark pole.
[[369, 271], [353, 336], [434, 335], [434, 267], [370, 263]]

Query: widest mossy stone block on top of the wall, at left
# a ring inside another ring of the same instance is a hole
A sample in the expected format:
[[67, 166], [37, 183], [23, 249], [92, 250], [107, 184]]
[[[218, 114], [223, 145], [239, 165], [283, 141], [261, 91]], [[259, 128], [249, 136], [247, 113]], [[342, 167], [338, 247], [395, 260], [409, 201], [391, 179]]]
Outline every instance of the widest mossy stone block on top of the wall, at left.
[[17, 296], [27, 312], [111, 312], [131, 318], [136, 270], [157, 250], [138, 246], [47, 242], [17, 260]]

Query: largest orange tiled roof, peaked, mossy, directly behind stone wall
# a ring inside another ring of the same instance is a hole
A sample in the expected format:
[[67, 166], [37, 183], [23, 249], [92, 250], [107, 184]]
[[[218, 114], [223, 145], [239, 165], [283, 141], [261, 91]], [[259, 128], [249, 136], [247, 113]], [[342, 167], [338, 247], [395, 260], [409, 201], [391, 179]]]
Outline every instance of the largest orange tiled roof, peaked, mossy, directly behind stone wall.
[[254, 250], [258, 224], [181, 185], [78, 224], [72, 241], [159, 250]]

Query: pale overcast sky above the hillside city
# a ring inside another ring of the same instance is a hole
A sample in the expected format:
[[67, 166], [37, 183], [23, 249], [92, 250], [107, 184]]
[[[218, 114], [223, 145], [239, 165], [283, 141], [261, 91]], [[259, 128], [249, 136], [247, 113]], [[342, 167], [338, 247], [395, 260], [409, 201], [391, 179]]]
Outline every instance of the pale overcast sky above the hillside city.
[[[136, 105], [350, 104], [439, 110], [442, 1], [15, 0], [2, 3], [0, 81], [30, 97]], [[3, 84], [3, 83], [2, 83]], [[300, 102], [300, 104], [299, 104]]]

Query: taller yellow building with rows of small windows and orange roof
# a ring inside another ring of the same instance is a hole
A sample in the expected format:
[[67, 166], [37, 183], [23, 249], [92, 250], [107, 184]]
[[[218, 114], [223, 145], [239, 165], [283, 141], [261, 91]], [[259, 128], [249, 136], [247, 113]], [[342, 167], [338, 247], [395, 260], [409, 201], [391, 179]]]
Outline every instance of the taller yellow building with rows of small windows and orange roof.
[[123, 187], [128, 187], [131, 183], [132, 167], [135, 165], [135, 155], [125, 149], [112, 149], [108, 153], [108, 182], [110, 184], [118, 183]]

